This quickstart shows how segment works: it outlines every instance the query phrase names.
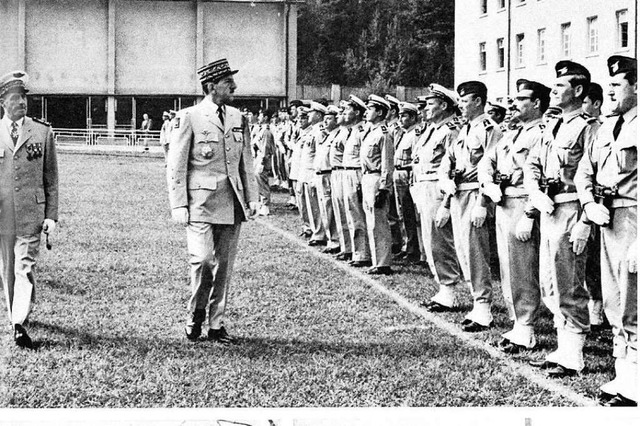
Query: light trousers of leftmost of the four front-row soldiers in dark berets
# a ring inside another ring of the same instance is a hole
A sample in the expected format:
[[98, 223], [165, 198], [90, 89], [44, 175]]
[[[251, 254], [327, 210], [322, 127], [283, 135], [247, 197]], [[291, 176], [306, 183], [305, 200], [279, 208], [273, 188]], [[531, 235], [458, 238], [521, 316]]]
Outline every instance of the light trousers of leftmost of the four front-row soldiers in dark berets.
[[[455, 238], [456, 252], [460, 266], [464, 271], [468, 269], [471, 281], [471, 296], [475, 303], [491, 303], [493, 291], [491, 288], [491, 243], [489, 241], [489, 227], [491, 211], [487, 208], [485, 223], [476, 228], [471, 223], [471, 212], [479, 197], [477, 189], [458, 191], [451, 200], [451, 221]], [[465, 275], [467, 275], [465, 273]]]

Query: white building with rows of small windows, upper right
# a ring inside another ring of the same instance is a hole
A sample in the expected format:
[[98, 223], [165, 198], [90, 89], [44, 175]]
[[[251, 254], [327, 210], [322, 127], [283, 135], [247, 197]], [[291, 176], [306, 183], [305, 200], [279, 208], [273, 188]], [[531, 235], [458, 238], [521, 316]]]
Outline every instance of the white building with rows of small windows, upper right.
[[519, 78], [550, 84], [579, 62], [606, 85], [606, 60], [637, 57], [636, 0], [456, 0], [455, 81], [479, 80], [505, 101]]

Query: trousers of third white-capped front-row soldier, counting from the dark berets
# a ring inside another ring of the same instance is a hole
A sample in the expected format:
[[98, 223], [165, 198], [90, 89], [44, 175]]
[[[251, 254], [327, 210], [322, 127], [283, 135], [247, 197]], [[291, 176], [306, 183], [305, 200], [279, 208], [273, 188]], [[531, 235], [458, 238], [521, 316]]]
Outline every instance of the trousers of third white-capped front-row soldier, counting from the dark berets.
[[369, 238], [367, 222], [362, 209], [362, 172], [345, 170], [343, 175], [344, 204], [347, 213], [347, 225], [353, 248], [353, 260], [369, 260]]

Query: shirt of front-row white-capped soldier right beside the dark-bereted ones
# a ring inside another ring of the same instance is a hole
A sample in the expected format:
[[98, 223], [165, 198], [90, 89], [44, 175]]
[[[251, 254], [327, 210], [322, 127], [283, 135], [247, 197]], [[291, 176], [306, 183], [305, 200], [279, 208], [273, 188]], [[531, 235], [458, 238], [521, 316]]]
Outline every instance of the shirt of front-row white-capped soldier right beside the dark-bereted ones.
[[[445, 153], [457, 139], [460, 129], [451, 115], [438, 124], [427, 126], [413, 147], [413, 175], [419, 179], [423, 175], [432, 175], [438, 172]], [[420, 130], [414, 130], [416, 135]]]

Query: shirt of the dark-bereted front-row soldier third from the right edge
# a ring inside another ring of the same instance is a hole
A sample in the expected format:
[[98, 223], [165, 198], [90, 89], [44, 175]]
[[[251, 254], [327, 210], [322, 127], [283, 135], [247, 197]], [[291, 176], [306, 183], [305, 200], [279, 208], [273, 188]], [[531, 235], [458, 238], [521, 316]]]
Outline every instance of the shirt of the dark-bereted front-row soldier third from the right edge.
[[478, 181], [492, 183], [497, 173], [511, 177], [510, 186], [523, 187], [525, 161], [529, 152], [542, 140], [542, 119], [530, 121], [518, 129], [509, 130], [490, 148], [478, 164]]

